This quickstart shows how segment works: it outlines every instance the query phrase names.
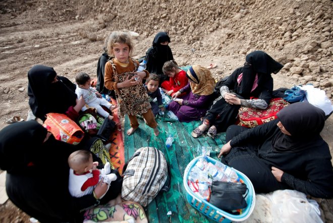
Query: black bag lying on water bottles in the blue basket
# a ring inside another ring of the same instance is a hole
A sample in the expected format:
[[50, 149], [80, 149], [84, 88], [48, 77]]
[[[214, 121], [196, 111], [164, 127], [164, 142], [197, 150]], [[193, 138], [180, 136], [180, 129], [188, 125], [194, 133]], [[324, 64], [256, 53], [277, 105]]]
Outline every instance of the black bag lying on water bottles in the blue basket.
[[243, 183], [213, 181], [209, 203], [223, 210], [242, 209], [247, 206], [248, 191]]

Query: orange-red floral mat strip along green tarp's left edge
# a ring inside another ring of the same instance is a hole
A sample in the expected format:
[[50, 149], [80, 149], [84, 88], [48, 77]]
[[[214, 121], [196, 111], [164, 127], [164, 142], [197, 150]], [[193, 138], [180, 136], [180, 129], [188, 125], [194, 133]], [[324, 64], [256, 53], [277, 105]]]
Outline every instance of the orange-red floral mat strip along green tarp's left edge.
[[[115, 99], [112, 99], [113, 104], [117, 104]], [[120, 123], [118, 118], [118, 108], [113, 110], [114, 121]], [[119, 171], [120, 174], [123, 173], [123, 167], [125, 164], [124, 156], [124, 139], [122, 129], [116, 128], [113, 134], [110, 136], [111, 147], [109, 149], [110, 158], [115, 169]]]

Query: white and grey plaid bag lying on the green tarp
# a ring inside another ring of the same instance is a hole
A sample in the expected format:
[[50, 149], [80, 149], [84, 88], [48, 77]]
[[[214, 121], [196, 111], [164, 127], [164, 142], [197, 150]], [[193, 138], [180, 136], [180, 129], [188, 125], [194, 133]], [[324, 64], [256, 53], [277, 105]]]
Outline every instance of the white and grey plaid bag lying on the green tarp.
[[164, 154], [154, 147], [135, 151], [123, 169], [122, 199], [147, 206], [159, 191], [170, 188], [170, 168]]

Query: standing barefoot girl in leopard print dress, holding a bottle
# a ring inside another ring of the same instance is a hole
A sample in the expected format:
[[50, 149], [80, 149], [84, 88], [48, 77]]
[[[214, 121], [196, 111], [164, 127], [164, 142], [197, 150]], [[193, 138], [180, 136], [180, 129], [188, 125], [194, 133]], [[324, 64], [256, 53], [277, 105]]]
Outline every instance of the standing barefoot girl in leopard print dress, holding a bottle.
[[130, 58], [133, 43], [130, 35], [123, 31], [114, 31], [107, 40], [107, 53], [114, 55], [105, 64], [104, 85], [109, 90], [115, 90], [118, 104], [118, 114], [130, 119], [131, 128], [127, 135], [139, 127], [136, 115], [142, 115], [149, 127], [159, 134], [157, 123], [151, 111], [147, 91], [142, 85], [142, 79], [149, 76], [148, 71], [137, 72], [139, 62]]

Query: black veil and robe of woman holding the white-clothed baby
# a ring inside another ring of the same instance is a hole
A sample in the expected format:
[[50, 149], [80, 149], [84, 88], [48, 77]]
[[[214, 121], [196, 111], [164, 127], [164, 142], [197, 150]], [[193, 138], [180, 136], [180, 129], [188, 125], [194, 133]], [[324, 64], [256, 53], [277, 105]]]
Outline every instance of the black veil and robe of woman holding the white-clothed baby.
[[45, 120], [47, 113], [64, 114], [70, 106], [76, 104], [75, 85], [66, 77], [58, 76], [51, 67], [36, 65], [28, 72], [28, 96], [32, 113]]

